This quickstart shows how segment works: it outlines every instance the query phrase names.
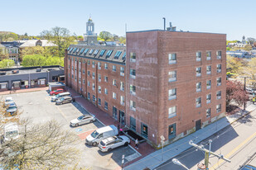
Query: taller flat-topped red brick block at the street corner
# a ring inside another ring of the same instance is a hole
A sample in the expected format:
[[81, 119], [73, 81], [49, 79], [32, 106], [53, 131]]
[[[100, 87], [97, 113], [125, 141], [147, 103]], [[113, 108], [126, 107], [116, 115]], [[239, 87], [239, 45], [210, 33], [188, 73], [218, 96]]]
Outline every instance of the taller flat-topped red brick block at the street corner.
[[225, 43], [224, 34], [128, 32], [127, 125], [158, 145], [224, 116]]

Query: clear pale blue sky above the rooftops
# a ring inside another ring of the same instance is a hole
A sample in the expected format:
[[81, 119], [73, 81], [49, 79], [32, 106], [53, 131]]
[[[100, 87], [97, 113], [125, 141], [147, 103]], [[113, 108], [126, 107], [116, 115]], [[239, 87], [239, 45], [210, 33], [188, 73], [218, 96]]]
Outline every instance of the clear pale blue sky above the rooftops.
[[227, 40], [256, 38], [255, 0], [0, 0], [0, 31], [40, 35], [55, 26], [83, 35], [91, 16], [95, 33], [163, 29], [224, 33]]

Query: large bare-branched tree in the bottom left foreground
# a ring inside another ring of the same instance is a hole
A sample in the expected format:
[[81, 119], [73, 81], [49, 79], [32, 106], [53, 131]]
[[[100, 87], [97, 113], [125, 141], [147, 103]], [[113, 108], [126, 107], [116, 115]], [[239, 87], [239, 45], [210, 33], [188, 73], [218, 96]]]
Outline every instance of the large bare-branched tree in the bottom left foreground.
[[80, 151], [74, 147], [78, 136], [51, 120], [46, 124], [22, 126], [20, 137], [2, 144], [3, 167], [19, 169], [67, 169], [75, 166]]

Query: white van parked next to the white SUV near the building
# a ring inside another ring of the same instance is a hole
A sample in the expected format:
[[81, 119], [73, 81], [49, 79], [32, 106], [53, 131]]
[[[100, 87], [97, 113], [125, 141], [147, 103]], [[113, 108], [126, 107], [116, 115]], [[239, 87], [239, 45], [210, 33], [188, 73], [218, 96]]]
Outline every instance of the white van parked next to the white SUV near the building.
[[91, 135], [86, 137], [85, 144], [96, 146], [102, 139], [109, 138], [115, 135], [118, 135], [118, 128], [114, 125], [108, 125], [99, 128], [98, 130], [94, 130]]

